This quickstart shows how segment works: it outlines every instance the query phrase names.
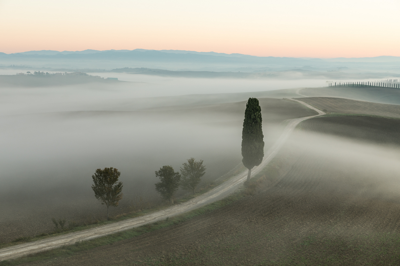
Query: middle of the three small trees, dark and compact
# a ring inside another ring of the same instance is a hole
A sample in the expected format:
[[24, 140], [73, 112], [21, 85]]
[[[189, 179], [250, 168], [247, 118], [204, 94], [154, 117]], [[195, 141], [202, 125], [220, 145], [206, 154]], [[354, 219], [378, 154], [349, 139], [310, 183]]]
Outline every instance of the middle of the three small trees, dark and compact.
[[180, 173], [174, 172], [172, 166], [163, 166], [156, 171], [156, 177], [160, 177], [160, 182], [156, 183], [156, 191], [161, 194], [164, 199], [168, 199], [174, 204], [174, 194], [179, 188]]

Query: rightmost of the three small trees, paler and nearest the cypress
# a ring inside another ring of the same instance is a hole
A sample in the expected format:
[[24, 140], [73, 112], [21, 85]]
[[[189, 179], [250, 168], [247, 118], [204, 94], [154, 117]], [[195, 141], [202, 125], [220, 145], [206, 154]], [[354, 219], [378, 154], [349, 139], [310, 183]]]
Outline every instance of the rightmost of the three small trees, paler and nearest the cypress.
[[182, 174], [182, 180], [180, 186], [182, 189], [193, 191], [201, 181], [201, 177], [206, 173], [206, 167], [203, 166], [203, 160], [196, 162], [194, 158], [188, 159], [187, 163], [182, 164], [183, 168], [180, 167], [180, 173]]

